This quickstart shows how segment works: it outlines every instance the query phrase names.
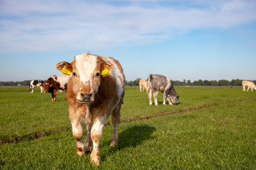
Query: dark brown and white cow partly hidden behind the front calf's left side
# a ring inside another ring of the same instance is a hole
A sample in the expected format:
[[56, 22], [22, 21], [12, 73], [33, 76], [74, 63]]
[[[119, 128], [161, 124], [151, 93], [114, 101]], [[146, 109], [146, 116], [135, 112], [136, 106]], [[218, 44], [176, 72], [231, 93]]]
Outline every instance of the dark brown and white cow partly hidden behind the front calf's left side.
[[[70, 77], [65, 75], [51, 76], [48, 78], [46, 83], [43, 84], [43, 89], [46, 92], [51, 93], [52, 101], [56, 101], [58, 89], [60, 90], [67, 89], [68, 79], [70, 79]], [[65, 99], [66, 97], [64, 98], [64, 100]]]

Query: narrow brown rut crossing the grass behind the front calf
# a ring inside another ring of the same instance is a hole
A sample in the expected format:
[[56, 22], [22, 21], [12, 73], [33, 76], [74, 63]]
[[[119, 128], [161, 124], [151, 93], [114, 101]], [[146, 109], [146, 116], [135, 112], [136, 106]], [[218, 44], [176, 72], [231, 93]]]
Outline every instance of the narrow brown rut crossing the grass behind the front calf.
[[[211, 107], [214, 107], [214, 106], [223, 106], [223, 105], [228, 105], [230, 103], [239, 103], [239, 102], [246, 102], [246, 101], [252, 101], [252, 100], [255, 100], [255, 98], [247, 98], [247, 99], [243, 99], [243, 100], [235, 100], [235, 101], [227, 101], [227, 102], [224, 102], [224, 103], [212, 103], [212, 104], [206, 104], [206, 105], [203, 105], [203, 106], [196, 106], [196, 107], [192, 107], [192, 108], [183, 108], [183, 109], [179, 109], [179, 110], [174, 110], [174, 111], [170, 111], [170, 112], [163, 112], [163, 113], [156, 113], [154, 115], [143, 115], [143, 116], [140, 116], [139, 118], [127, 118], [127, 119], [124, 119], [124, 120], [120, 120], [120, 123], [129, 123], [129, 122], [133, 122], [133, 121], [137, 121], [137, 120], [147, 120], [147, 119], [151, 119], [151, 118], [157, 118], [157, 117], [160, 117], [160, 116], [163, 116], [163, 115], [172, 115], [172, 114], [177, 114], [177, 113], [187, 113], [188, 111], [195, 111], [195, 110], [200, 110], [200, 109], [203, 109], [203, 108], [211, 108]], [[155, 106], [151, 106], [151, 107], [155, 107]], [[107, 122], [106, 125], [110, 125], [111, 122]], [[71, 130], [71, 128], [61, 128], [61, 129], [58, 129], [58, 130], [49, 130], [49, 131], [46, 131], [46, 132], [38, 132], [36, 134], [28, 134], [28, 135], [25, 135], [25, 136], [22, 136], [22, 137], [9, 137], [5, 140], [1, 140], [0, 139], [0, 145], [4, 145], [6, 143], [19, 143], [19, 142], [23, 142], [23, 141], [28, 141], [28, 140], [36, 140], [38, 138], [41, 138], [41, 137], [47, 137], [47, 136], [50, 136], [50, 135], [53, 135], [55, 133], [58, 133], [58, 132], [65, 132], [65, 131], [68, 131], [68, 130]]]

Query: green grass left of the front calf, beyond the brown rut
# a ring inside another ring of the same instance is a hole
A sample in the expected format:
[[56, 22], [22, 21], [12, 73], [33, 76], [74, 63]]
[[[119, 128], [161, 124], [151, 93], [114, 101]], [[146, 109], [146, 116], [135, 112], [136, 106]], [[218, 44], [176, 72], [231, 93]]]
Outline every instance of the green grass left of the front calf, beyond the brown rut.
[[0, 139], [31, 138], [37, 133], [70, 127], [68, 102], [64, 93], [57, 94], [57, 102], [49, 93], [33, 94], [27, 87], [0, 87]]

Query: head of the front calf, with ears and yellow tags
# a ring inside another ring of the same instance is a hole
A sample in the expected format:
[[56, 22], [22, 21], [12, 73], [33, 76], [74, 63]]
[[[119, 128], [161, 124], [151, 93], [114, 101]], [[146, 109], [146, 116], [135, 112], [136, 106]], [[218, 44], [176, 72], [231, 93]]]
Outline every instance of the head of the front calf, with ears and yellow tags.
[[105, 76], [103, 72], [109, 74], [114, 66], [102, 60], [102, 57], [84, 54], [76, 56], [71, 63], [59, 62], [55, 67], [60, 72], [65, 72], [64, 70], [72, 72], [69, 81], [75, 98], [80, 103], [88, 104], [95, 100], [102, 76]]

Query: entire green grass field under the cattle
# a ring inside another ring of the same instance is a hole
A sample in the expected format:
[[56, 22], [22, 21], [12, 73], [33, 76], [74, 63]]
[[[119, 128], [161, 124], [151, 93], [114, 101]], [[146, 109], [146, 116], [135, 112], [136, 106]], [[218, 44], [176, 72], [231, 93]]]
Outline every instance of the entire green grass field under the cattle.
[[119, 145], [110, 147], [106, 125], [101, 165], [92, 167], [90, 154], [75, 154], [65, 94], [53, 103], [39, 89], [2, 86], [0, 169], [256, 169], [256, 91], [175, 89], [177, 106], [163, 106], [159, 94], [156, 107], [145, 91], [126, 87]]

